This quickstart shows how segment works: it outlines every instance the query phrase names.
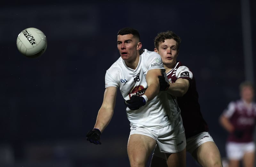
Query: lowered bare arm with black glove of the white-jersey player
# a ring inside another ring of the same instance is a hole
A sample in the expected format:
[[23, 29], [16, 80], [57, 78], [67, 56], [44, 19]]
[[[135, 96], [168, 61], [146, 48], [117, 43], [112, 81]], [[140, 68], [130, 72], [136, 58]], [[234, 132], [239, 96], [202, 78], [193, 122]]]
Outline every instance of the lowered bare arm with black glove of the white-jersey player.
[[108, 87], [105, 89], [103, 102], [97, 115], [94, 128], [90, 130], [86, 137], [87, 140], [94, 144], [100, 143], [100, 135], [103, 130], [108, 126], [116, 105], [116, 87]]

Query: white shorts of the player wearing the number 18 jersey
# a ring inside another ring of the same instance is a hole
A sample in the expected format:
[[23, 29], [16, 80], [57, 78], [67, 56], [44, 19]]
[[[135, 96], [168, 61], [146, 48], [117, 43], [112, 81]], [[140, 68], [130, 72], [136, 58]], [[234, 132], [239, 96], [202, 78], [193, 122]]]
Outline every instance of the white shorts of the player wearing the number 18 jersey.
[[149, 130], [146, 127], [131, 127], [130, 135], [142, 134], [156, 140], [159, 151], [162, 153], [176, 153], [185, 149], [186, 137], [181, 117], [171, 125], [157, 130]]

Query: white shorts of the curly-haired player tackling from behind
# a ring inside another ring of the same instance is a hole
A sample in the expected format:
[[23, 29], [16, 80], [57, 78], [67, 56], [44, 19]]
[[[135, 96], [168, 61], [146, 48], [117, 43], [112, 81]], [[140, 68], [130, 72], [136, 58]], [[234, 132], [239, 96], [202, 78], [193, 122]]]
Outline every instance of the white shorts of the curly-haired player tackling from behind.
[[[202, 133], [196, 134], [195, 136], [192, 136], [187, 139], [186, 151], [192, 154], [192, 152], [196, 148], [198, 148], [200, 145], [202, 145], [205, 142], [214, 142], [209, 132], [202, 132]], [[165, 155], [160, 153], [159, 148], [157, 146], [154, 150], [153, 155], [158, 156], [162, 159], [166, 159]]]

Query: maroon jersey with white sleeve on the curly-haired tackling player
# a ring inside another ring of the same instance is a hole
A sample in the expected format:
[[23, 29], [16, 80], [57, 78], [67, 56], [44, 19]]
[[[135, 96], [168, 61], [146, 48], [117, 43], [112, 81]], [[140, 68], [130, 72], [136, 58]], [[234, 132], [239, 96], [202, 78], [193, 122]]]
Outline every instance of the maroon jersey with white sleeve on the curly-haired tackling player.
[[193, 73], [188, 69], [188, 67], [183, 66], [179, 61], [177, 61], [175, 67], [166, 74], [170, 83], [174, 83], [178, 78], [187, 79], [189, 81], [187, 93], [182, 97], [177, 97], [186, 138], [192, 137], [201, 132], [208, 132], [208, 125], [200, 110], [198, 93], [196, 91], [196, 80], [193, 77]]

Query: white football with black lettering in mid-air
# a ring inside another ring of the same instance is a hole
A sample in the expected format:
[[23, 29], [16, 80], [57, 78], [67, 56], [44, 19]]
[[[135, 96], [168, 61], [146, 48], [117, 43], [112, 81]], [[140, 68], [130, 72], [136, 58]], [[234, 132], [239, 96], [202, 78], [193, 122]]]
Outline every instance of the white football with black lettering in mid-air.
[[36, 58], [45, 52], [47, 40], [41, 30], [30, 27], [19, 33], [16, 44], [21, 54]]

